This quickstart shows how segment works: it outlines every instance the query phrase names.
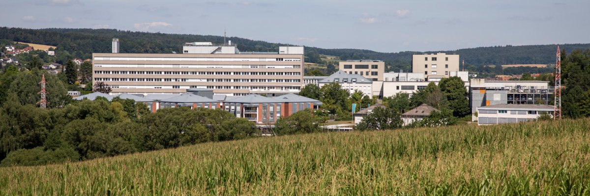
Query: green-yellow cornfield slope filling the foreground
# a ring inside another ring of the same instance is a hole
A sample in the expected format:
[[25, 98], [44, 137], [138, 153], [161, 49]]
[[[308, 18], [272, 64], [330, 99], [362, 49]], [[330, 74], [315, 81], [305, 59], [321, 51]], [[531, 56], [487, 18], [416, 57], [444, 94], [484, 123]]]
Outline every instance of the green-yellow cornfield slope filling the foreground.
[[0, 168], [0, 194], [590, 194], [590, 119], [264, 137]]

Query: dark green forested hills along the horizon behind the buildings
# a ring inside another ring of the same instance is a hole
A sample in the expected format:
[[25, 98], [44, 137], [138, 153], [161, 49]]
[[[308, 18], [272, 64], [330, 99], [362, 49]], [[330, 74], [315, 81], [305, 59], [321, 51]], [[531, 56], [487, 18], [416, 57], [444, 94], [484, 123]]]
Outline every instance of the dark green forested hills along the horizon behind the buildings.
[[[58, 55], [73, 58], [90, 58], [92, 52], [110, 52], [111, 39], [121, 40], [120, 51], [127, 53], [171, 53], [181, 52], [185, 42], [207, 41], [222, 43], [223, 36], [162, 34], [148, 32], [120, 31], [117, 29], [23, 29], [0, 27], [0, 39], [34, 44], [56, 45]], [[278, 46], [289, 44], [254, 41], [229, 37], [238, 44], [241, 51], [278, 51]], [[566, 51], [590, 48], [590, 44], [564, 44]], [[340, 59], [380, 59], [393, 65], [392, 68], [408, 68], [413, 54], [446, 52], [459, 54], [470, 65], [501, 64], [552, 64], [555, 63], [556, 45], [490, 46], [458, 49], [456, 51], [405, 51], [375, 52], [366, 49], [324, 49], [306, 47], [308, 62], [317, 61], [319, 54], [332, 55]], [[61, 51], [61, 52], [60, 52]]]

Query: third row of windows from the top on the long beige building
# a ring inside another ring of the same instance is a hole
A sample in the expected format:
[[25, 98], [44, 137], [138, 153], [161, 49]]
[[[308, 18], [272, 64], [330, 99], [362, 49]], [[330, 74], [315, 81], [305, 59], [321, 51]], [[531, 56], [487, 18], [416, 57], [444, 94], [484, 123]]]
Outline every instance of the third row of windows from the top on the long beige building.
[[134, 75], [301, 75], [301, 72], [231, 72], [231, 71], [94, 71], [94, 74]]

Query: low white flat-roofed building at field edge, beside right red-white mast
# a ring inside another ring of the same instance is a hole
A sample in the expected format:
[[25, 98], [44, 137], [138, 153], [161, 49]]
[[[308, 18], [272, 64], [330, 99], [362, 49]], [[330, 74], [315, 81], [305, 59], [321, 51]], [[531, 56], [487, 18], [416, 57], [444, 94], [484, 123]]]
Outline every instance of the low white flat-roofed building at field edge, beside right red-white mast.
[[477, 124], [506, 124], [535, 121], [542, 114], [553, 115], [552, 105], [497, 104], [477, 108]]

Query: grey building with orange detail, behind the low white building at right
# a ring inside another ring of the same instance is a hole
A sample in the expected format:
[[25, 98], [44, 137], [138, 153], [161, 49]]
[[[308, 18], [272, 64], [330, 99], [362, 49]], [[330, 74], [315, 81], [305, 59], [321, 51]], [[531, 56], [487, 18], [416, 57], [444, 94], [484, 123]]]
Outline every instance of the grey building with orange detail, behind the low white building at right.
[[477, 108], [498, 104], [552, 104], [555, 89], [546, 81], [486, 81], [471, 79], [471, 119], [476, 120]]

